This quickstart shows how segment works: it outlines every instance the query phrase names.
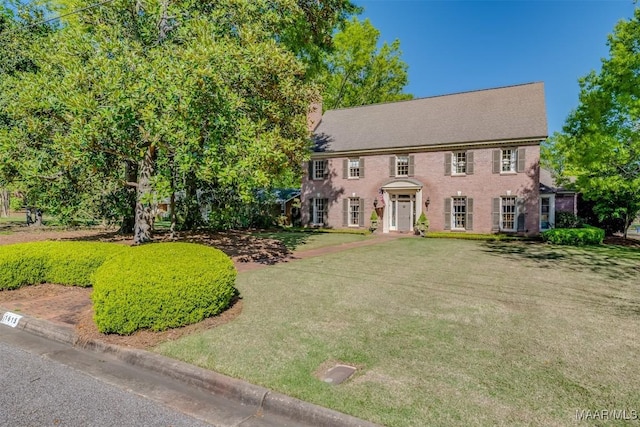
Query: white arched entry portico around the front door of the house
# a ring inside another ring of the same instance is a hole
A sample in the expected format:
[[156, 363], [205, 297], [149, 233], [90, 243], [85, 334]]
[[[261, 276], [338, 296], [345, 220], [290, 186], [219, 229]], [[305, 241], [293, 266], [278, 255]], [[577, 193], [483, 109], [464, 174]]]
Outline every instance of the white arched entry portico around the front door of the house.
[[382, 232], [412, 232], [422, 212], [422, 183], [412, 178], [396, 178], [382, 186], [384, 215]]

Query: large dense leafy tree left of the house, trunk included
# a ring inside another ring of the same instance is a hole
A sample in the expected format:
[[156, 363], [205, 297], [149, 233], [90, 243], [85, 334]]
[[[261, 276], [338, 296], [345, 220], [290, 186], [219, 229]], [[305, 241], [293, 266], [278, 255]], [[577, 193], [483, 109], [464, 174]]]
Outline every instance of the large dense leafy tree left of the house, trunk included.
[[31, 45], [38, 71], [3, 81], [11, 122], [0, 142], [25, 147], [21, 175], [59, 210], [115, 200], [126, 217], [130, 206], [136, 243], [151, 239], [154, 203], [177, 190], [247, 202], [299, 170], [318, 96], [308, 71], [354, 10], [344, 0], [49, 7], [65, 18]]

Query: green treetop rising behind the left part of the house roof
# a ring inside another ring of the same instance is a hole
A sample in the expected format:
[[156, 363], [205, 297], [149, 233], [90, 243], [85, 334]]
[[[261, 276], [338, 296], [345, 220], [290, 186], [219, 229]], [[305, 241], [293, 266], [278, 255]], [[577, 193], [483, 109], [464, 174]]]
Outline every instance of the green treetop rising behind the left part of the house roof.
[[380, 32], [367, 19], [353, 18], [336, 34], [333, 50], [325, 57], [325, 110], [411, 99], [403, 93], [408, 82], [400, 41], [378, 49]]

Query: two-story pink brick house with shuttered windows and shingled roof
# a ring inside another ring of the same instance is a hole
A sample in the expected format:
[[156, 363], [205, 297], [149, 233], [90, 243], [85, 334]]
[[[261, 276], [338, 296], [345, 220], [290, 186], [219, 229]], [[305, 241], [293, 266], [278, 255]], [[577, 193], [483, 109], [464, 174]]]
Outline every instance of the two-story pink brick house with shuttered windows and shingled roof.
[[327, 111], [302, 180], [302, 222], [537, 234], [543, 83]]

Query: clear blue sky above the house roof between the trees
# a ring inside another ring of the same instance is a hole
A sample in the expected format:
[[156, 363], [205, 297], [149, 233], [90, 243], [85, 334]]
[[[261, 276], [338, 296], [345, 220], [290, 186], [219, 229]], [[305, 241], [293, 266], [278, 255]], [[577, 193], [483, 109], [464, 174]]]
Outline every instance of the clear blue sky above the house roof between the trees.
[[[607, 35], [632, 0], [353, 0], [400, 39], [414, 97], [542, 81], [549, 135], [578, 105], [578, 78], [608, 57]], [[638, 5], [640, 7], [640, 4]]]

